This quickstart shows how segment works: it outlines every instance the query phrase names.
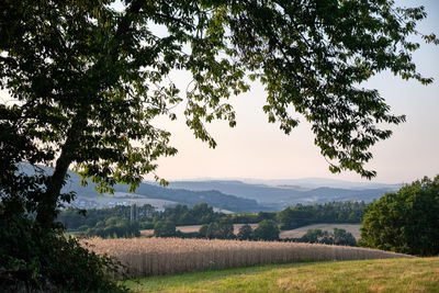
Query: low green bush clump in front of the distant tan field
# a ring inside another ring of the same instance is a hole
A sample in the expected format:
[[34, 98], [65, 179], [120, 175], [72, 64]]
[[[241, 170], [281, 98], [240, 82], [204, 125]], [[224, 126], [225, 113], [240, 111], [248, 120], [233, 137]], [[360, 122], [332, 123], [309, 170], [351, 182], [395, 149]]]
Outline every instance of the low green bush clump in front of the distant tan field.
[[351, 233], [338, 228], [334, 228], [334, 233], [322, 229], [308, 229], [297, 240], [309, 244], [357, 246], [357, 240]]

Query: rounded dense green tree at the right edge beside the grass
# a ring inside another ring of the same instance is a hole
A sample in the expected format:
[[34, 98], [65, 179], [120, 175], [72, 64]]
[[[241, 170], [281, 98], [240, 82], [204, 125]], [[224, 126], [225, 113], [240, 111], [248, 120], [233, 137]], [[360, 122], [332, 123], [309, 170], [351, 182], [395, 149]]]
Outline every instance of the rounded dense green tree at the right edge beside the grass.
[[439, 176], [425, 177], [371, 203], [360, 246], [419, 256], [439, 253]]

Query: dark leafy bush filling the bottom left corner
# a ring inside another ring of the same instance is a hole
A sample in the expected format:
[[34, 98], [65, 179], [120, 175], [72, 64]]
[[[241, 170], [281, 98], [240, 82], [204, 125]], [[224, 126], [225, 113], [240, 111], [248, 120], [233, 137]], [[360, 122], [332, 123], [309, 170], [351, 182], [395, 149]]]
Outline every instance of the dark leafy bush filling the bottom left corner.
[[63, 229], [50, 232], [25, 214], [11, 213], [0, 203], [0, 273], [13, 275], [2, 290], [27, 289], [56, 292], [120, 292], [106, 273], [119, 264], [108, 257], [88, 251], [75, 238], [66, 238]]

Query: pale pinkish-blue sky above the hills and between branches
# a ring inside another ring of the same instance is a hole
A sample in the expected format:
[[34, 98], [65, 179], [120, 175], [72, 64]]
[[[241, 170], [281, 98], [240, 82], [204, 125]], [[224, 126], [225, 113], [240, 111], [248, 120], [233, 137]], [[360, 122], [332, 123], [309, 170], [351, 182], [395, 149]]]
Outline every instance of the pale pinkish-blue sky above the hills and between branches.
[[[428, 16], [418, 30], [439, 35], [439, 1], [398, 0], [402, 5], [425, 5]], [[406, 114], [407, 122], [392, 126], [394, 134], [372, 148], [374, 158], [367, 166], [378, 172], [373, 182], [410, 182], [424, 176], [439, 173], [439, 46], [423, 44], [414, 54], [418, 70], [435, 82], [421, 86], [404, 81], [390, 74], [376, 76], [368, 82], [376, 88], [392, 106], [394, 114]], [[175, 72], [170, 77], [185, 89], [189, 77]], [[2, 98], [4, 92], [0, 92]], [[237, 126], [215, 122], [207, 129], [217, 147], [194, 138], [181, 115], [175, 122], [165, 119], [156, 125], [172, 133], [171, 145], [179, 149], [175, 157], [158, 160], [157, 174], [167, 180], [198, 178], [297, 179], [307, 177], [365, 181], [353, 172], [333, 174], [328, 164], [314, 145], [314, 135], [302, 116], [301, 124], [286, 136], [278, 124], [269, 124], [262, 111], [264, 91], [258, 83], [251, 90], [230, 100], [237, 114]], [[182, 112], [184, 104], [177, 112]], [[147, 179], [151, 179], [147, 177]]]

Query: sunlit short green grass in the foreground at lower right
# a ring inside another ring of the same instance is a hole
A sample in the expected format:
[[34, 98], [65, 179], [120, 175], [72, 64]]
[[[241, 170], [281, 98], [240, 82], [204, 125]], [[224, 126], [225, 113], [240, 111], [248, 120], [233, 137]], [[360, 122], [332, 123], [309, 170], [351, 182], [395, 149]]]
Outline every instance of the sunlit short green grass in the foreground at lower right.
[[439, 257], [266, 264], [123, 283], [136, 292], [439, 292]]

